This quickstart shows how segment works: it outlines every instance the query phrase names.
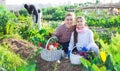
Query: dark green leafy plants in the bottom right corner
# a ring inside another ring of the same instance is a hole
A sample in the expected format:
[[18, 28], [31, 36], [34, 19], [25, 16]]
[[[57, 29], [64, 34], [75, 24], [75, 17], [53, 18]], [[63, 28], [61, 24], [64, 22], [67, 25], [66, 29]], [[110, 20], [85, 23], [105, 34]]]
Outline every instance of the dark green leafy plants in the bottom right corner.
[[84, 71], [119, 71], [120, 65], [114, 64], [111, 55], [107, 55], [105, 63], [100, 58], [95, 58], [91, 62], [84, 58], [80, 58]]

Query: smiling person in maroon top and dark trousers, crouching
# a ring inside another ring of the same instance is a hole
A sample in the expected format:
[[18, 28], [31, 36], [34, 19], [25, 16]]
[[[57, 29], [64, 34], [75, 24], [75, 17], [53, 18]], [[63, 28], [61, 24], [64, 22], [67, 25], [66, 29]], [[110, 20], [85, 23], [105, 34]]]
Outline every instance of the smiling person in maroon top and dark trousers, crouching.
[[54, 32], [54, 36], [58, 39], [58, 42], [62, 45], [62, 50], [64, 51], [64, 57], [67, 57], [68, 53], [68, 46], [71, 34], [74, 30], [74, 14], [68, 13], [65, 16], [64, 22], [62, 25], [60, 25], [56, 31]]

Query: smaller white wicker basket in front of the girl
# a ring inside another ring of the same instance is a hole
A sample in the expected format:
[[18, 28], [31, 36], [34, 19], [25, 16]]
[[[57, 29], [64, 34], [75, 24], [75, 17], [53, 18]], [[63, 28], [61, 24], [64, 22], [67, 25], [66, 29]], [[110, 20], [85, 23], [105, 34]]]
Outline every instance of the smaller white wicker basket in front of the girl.
[[[76, 47], [76, 46], [75, 46]], [[74, 48], [75, 48], [74, 47]], [[74, 49], [73, 48], [73, 49]], [[72, 50], [73, 50], [72, 49]], [[73, 54], [73, 53], [70, 53], [70, 62], [71, 62], [71, 64], [81, 64], [81, 62], [80, 62], [80, 58], [81, 58], [82, 56], [80, 56], [80, 55], [77, 55], [77, 54]]]

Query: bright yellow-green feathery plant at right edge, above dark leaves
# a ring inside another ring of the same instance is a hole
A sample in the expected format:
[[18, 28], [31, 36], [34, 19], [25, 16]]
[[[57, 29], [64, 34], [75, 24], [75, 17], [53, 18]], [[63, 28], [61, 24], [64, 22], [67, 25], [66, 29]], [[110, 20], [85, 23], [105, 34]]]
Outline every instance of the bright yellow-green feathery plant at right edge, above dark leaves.
[[112, 54], [113, 59], [115, 60], [115, 62], [117, 62], [118, 64], [120, 64], [120, 62], [118, 60], [120, 60], [120, 51], [119, 51], [119, 43], [120, 43], [120, 35], [116, 34], [116, 37], [112, 36], [111, 38], [111, 43], [108, 45], [106, 43], [104, 43], [102, 40], [100, 41], [102, 49], [105, 52]]

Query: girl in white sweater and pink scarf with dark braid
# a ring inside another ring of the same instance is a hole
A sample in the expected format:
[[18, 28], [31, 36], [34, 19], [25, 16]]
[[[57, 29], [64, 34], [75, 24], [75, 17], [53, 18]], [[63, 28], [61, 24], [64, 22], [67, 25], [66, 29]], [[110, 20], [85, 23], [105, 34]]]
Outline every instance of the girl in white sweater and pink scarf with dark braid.
[[[85, 50], [91, 50], [99, 55], [99, 48], [94, 42], [93, 32], [86, 26], [86, 20], [84, 17], [80, 16], [76, 19], [76, 29], [71, 35], [69, 43], [69, 51], [81, 51], [82, 48]], [[77, 46], [77, 48], [73, 48]]]

